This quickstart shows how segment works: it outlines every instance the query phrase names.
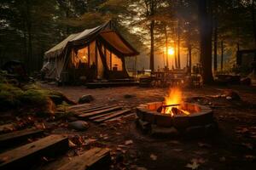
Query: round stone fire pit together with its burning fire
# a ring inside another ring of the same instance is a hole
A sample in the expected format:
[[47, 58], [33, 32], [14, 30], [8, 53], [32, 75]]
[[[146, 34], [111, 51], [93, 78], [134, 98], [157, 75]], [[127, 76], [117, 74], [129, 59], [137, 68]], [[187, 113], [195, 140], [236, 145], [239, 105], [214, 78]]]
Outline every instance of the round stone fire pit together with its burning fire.
[[183, 102], [177, 88], [171, 89], [164, 102], [139, 105], [137, 117], [137, 125], [152, 135], [201, 136], [218, 127], [209, 107]]

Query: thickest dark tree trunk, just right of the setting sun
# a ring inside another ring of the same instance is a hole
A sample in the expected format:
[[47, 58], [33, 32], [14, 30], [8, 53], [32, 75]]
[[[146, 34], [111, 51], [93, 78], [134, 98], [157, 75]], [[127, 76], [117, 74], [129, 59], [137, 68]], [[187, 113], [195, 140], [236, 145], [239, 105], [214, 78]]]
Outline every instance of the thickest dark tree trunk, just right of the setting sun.
[[212, 21], [209, 17], [207, 4], [210, 0], [199, 0], [199, 22], [201, 37], [202, 78], [206, 84], [213, 82], [212, 77]]

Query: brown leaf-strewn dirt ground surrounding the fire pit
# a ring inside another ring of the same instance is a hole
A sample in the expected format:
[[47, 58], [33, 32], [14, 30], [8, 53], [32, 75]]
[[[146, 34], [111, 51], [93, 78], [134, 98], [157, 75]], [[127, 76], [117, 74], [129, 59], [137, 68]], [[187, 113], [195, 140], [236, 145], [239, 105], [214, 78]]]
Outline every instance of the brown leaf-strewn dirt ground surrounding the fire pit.
[[[61, 91], [74, 101], [84, 94], [91, 94], [95, 99], [93, 104], [118, 104], [132, 109], [143, 103], [160, 101], [168, 91], [167, 88], [41, 86]], [[241, 101], [212, 97], [223, 94], [225, 89], [235, 90], [241, 96]], [[125, 94], [131, 94], [132, 97], [126, 99]], [[203, 98], [194, 98], [199, 96]], [[85, 132], [60, 127], [53, 133], [64, 133], [73, 138], [75, 135], [83, 136], [88, 145], [69, 151], [67, 156], [49, 163], [43, 169], [54, 169], [71, 156], [93, 146], [113, 150], [112, 169], [255, 169], [256, 87], [184, 88], [183, 98], [211, 106], [218, 121], [218, 133], [199, 139], [154, 139], [140, 133], [135, 118], [103, 125], [90, 123]]]

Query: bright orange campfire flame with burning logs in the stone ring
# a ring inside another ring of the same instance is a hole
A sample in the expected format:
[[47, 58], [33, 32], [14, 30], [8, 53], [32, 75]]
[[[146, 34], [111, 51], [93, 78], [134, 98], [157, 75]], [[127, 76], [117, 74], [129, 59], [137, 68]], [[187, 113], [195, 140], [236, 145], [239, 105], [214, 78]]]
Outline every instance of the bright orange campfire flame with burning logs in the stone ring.
[[[183, 104], [182, 99], [183, 93], [179, 88], [170, 88], [169, 94], [165, 97], [164, 105], [167, 105], [161, 113], [162, 114], [171, 114], [174, 116], [177, 113], [174, 113], [174, 111], [182, 112], [183, 115], [189, 115], [189, 111], [184, 111], [181, 108], [181, 105]], [[177, 105], [177, 106], [168, 106], [168, 105]]]

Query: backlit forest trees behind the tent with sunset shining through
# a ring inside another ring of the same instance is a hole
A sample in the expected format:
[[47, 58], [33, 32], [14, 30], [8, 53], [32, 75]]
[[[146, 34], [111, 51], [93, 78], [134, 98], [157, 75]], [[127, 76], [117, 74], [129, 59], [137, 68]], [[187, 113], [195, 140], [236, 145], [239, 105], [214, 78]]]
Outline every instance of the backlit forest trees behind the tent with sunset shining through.
[[57, 42], [110, 19], [136, 48], [148, 51], [151, 70], [154, 52], [170, 44], [177, 68], [181, 48], [190, 69], [198, 52], [205, 82], [212, 82], [212, 63], [213, 71], [223, 69], [226, 51], [256, 46], [254, 0], [2, 0], [0, 64], [21, 59], [28, 71], [38, 71], [44, 52]]

